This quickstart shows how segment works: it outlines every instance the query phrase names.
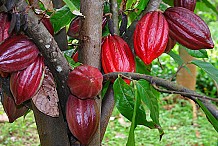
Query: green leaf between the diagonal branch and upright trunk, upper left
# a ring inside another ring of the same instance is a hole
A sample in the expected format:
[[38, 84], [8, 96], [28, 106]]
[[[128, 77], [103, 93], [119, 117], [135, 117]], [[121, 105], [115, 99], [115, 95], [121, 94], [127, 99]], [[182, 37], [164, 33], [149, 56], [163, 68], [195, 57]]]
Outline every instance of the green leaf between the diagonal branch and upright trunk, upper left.
[[67, 6], [58, 9], [58, 11], [55, 12], [50, 19], [55, 33], [64, 26], [68, 25], [73, 17], [74, 15]]

